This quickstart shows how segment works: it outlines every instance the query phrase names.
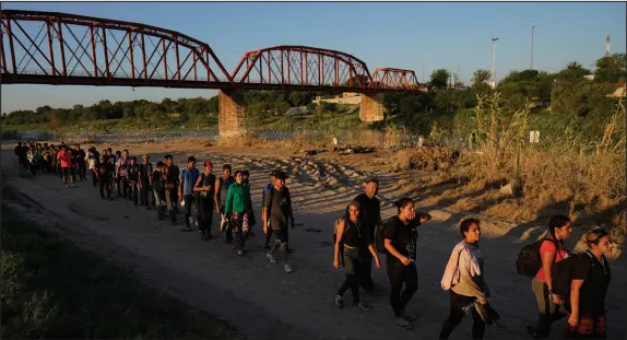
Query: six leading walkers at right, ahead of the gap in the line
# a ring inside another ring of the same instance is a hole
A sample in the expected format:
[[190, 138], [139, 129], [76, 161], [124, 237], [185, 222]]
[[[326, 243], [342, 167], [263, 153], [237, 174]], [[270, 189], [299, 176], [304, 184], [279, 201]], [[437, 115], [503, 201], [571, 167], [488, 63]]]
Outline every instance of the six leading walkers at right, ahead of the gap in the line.
[[[353, 306], [370, 309], [362, 302], [359, 288], [378, 295], [371, 266], [380, 268], [379, 256], [386, 255], [391, 309], [399, 327], [412, 329], [417, 316], [405, 306], [418, 290], [418, 227], [431, 216], [415, 211], [414, 199], [402, 198], [394, 202], [398, 213], [383, 222], [376, 197], [378, 189], [378, 180], [369, 179], [365, 192], [355, 197], [335, 221], [333, 267], [344, 268], [345, 280], [334, 302], [343, 308], [344, 294], [351, 290]], [[500, 315], [489, 304], [492, 291], [484, 277], [486, 259], [480, 248], [481, 221], [464, 219], [459, 231], [462, 241], [453, 247], [441, 280], [441, 288], [449, 291], [450, 312], [438, 339], [449, 339], [466, 314], [473, 318], [472, 338], [484, 339], [486, 325], [500, 325]], [[532, 251], [519, 255], [518, 270], [533, 277], [532, 291], [537, 300], [537, 325], [527, 329], [532, 339], [547, 338], [551, 325], [563, 317], [568, 317], [563, 339], [606, 338], [605, 297], [611, 272], [605, 256], [612, 253], [612, 239], [606, 230], [593, 228], [581, 237], [588, 249], [569, 254], [564, 239], [570, 231], [569, 218], [553, 216], [546, 237], [523, 248]]]

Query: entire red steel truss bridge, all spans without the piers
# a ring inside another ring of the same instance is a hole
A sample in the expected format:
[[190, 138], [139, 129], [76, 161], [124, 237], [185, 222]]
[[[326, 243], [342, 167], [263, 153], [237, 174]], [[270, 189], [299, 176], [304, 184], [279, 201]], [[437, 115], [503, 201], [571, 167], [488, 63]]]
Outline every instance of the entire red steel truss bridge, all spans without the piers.
[[83, 15], [2, 10], [2, 84], [221, 90], [417, 92], [411, 70], [336, 50], [275, 46], [244, 55], [229, 73], [212, 48], [161, 27]]

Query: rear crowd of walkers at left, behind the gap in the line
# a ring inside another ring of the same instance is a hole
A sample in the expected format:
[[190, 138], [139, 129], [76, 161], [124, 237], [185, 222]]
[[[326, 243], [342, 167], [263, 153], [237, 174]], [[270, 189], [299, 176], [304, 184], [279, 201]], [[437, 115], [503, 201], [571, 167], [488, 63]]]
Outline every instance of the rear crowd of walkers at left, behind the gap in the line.
[[[50, 150], [50, 156], [23, 162], [24, 151], [27, 154], [44, 154], [39, 148]], [[176, 225], [177, 215], [182, 214], [185, 226], [181, 231], [190, 232], [198, 226], [202, 241], [215, 238], [212, 233], [215, 211], [221, 219], [220, 232], [224, 234], [225, 243], [232, 244], [238, 256], [248, 251], [246, 243], [249, 236], [253, 236], [251, 227], [257, 222], [250, 197], [250, 173], [246, 169], [232, 174], [232, 166], [225, 164], [221, 176], [216, 177], [212, 174], [212, 162], [204, 162], [200, 171], [193, 156], [188, 157], [182, 168], [174, 164], [171, 154], [166, 154], [163, 161], [153, 166], [147, 154], [141, 156], [140, 163], [138, 157], [130, 156], [126, 149], [114, 153], [111, 148], [98, 152], [94, 146], [90, 146], [87, 152], [84, 152], [80, 144], [70, 148], [64, 143], [58, 148], [33, 142], [25, 145], [19, 143], [15, 155], [20, 166], [26, 166], [33, 175], [38, 171], [46, 174], [44, 168], [51, 167], [50, 173], [61, 177], [68, 188], [76, 187], [76, 174], [80, 180], [86, 181], [88, 169], [92, 173], [93, 186], [99, 187], [102, 199], [113, 200], [111, 195], [117, 194], [118, 198], [128, 199], [134, 202], [135, 207], [143, 206], [146, 210], [155, 210], [159, 221], [169, 218], [171, 225]], [[49, 163], [43, 162], [48, 160]], [[285, 186], [286, 174], [276, 171], [272, 172], [262, 197], [263, 232], [267, 234], [264, 249], [269, 250], [267, 257], [272, 263], [277, 262], [274, 254], [280, 250], [283, 270], [291, 273], [293, 270], [287, 260], [287, 228], [295, 226], [292, 199]], [[192, 209], [192, 206], [196, 209]], [[276, 239], [273, 245], [272, 235]]]

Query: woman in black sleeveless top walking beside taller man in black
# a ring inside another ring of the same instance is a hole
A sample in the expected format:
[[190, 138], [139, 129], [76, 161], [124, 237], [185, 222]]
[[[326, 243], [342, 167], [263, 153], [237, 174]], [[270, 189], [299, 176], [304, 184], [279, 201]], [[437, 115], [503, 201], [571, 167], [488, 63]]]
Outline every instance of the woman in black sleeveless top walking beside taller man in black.
[[338, 289], [335, 294], [335, 305], [340, 308], [344, 306], [344, 293], [351, 289], [353, 292], [353, 307], [368, 310], [370, 307], [359, 301], [359, 281], [363, 274], [364, 266], [362, 263], [363, 257], [359, 256], [359, 249], [366, 248], [370, 251], [375, 259], [375, 266], [381, 268], [379, 256], [372, 246], [372, 239], [360, 225], [359, 213], [362, 204], [357, 200], [353, 200], [347, 208], [347, 212], [338, 224], [335, 234], [335, 246], [333, 251], [333, 267], [340, 268], [340, 253], [343, 248], [343, 263], [346, 279]]

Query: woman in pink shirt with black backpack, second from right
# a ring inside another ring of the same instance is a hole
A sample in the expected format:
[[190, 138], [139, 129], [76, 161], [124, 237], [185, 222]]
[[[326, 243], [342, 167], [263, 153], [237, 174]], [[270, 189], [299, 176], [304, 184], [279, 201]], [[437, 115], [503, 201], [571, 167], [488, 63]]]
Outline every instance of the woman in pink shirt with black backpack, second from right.
[[559, 312], [559, 306], [564, 296], [553, 293], [553, 282], [551, 272], [554, 263], [568, 257], [568, 251], [564, 248], [564, 239], [570, 236], [571, 222], [565, 215], [555, 215], [548, 222], [548, 235], [542, 241], [540, 246], [540, 258], [542, 267], [531, 281], [531, 289], [537, 300], [537, 325], [528, 326], [527, 331], [533, 339], [540, 337], [547, 338], [551, 325], [565, 315]]

